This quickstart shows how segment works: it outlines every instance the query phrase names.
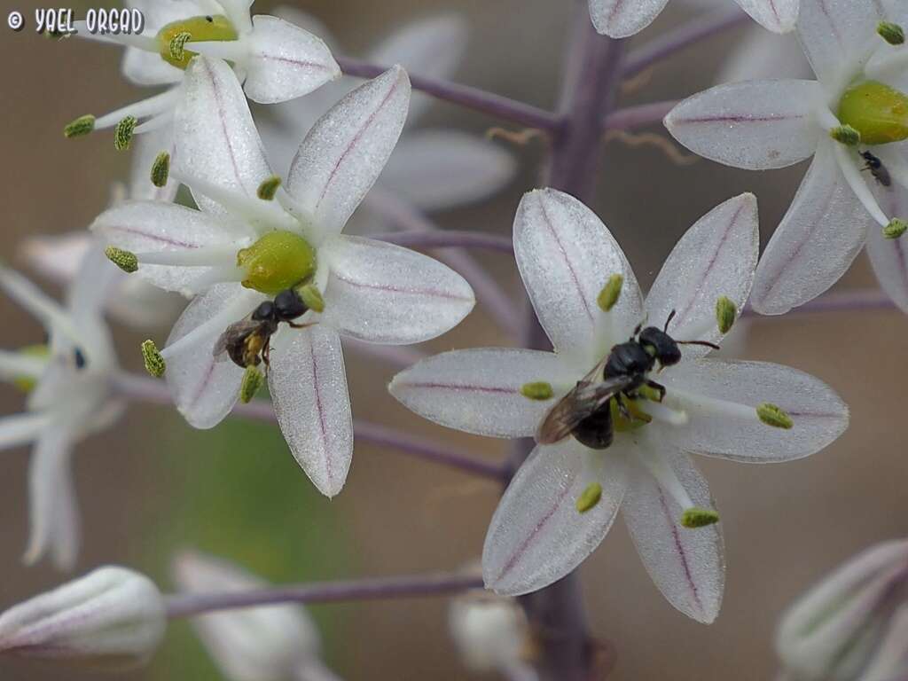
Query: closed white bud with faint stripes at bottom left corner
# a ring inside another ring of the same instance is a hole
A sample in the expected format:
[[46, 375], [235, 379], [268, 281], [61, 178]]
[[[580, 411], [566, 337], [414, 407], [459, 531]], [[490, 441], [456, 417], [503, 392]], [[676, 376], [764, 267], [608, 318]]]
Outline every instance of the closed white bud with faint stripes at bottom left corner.
[[146, 662], [166, 627], [151, 580], [98, 568], [0, 615], [0, 654], [122, 670]]

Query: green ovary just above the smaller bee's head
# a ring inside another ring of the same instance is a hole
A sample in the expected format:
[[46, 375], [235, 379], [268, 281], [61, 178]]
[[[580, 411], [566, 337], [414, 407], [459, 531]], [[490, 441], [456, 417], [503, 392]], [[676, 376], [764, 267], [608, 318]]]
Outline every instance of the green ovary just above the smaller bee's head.
[[307, 281], [315, 273], [315, 249], [299, 234], [269, 232], [236, 254], [246, 271], [247, 289], [276, 295]]

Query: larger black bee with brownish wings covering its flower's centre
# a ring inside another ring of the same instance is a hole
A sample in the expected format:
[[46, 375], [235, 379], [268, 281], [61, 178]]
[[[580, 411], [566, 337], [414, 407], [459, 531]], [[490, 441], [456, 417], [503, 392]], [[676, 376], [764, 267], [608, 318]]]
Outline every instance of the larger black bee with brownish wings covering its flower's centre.
[[611, 402], [626, 419], [635, 416], [627, 409], [626, 400], [637, 398], [643, 386], [656, 390], [659, 401], [665, 397], [665, 386], [647, 378], [656, 367], [670, 367], [681, 360], [678, 345], [706, 345], [718, 350], [715, 343], [707, 341], [676, 341], [668, 335], [668, 324], [675, 311], [668, 315], [664, 329], [648, 326], [641, 331], [639, 325], [627, 342], [613, 347], [607, 356], [581, 380], [577, 386], [558, 401], [539, 426], [536, 439], [539, 444], [551, 445], [573, 435], [578, 442], [590, 449], [607, 449], [615, 436], [612, 423]]

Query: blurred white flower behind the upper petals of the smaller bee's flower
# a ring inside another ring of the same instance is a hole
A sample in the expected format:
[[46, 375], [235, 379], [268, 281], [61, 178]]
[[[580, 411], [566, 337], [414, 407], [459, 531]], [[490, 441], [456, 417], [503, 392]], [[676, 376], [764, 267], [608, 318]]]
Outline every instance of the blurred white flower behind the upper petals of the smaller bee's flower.
[[[278, 14], [297, 25], [310, 26], [312, 22], [290, 7], [281, 8]], [[332, 44], [329, 35], [319, 35]], [[458, 15], [434, 16], [404, 25], [372, 50], [367, 61], [400, 64], [410, 73], [429, 78], [450, 78], [466, 52], [468, 37], [467, 25]], [[271, 162], [278, 168], [289, 167], [296, 143], [355, 84], [354, 79], [341, 78], [305, 99], [271, 107], [268, 113], [274, 120], [259, 123]], [[363, 202], [367, 210], [357, 212], [351, 230], [387, 229], [378, 218], [387, 197], [404, 200], [420, 211], [440, 211], [484, 199], [514, 177], [514, 159], [488, 140], [453, 129], [412, 130], [430, 105], [428, 95], [413, 94], [407, 127]], [[376, 210], [368, 210], [370, 207]]]

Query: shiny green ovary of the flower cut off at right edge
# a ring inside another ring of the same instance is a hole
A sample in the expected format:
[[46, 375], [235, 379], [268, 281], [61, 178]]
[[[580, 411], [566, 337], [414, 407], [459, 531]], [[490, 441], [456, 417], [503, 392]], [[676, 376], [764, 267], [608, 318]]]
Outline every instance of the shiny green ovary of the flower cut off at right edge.
[[878, 81], [854, 85], [839, 100], [839, 121], [861, 133], [864, 144], [908, 139], [908, 96]]

